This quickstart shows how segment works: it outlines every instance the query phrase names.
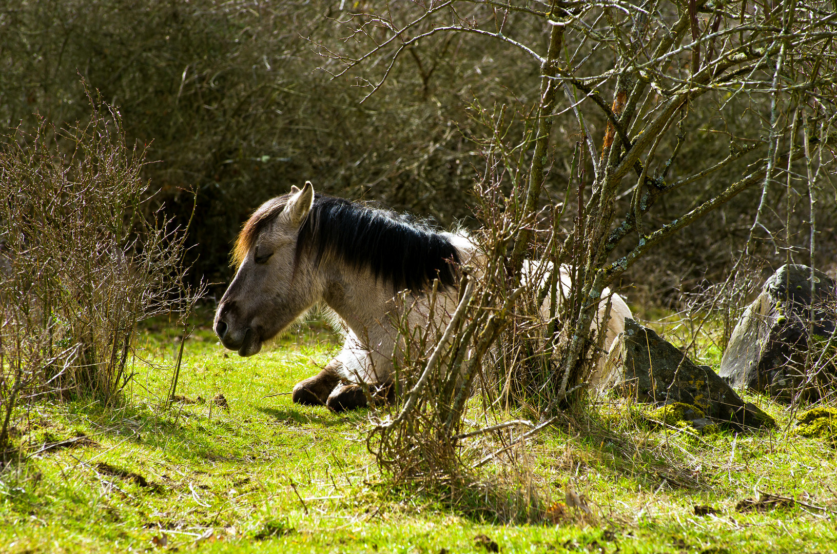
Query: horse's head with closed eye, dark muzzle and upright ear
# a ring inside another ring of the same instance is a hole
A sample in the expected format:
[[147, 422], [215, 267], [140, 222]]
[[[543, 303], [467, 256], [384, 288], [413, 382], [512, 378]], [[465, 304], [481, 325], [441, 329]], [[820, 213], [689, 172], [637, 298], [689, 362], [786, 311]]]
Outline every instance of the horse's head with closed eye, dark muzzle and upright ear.
[[317, 300], [312, 266], [297, 259], [296, 240], [314, 202], [314, 187], [291, 187], [290, 194], [262, 204], [239, 234], [239, 264], [215, 314], [223, 346], [252, 356]]

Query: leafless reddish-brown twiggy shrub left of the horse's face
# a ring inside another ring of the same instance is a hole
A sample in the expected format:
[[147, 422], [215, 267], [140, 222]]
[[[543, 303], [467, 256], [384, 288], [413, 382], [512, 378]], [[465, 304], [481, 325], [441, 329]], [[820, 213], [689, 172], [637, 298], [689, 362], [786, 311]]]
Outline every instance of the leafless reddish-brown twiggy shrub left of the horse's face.
[[118, 110], [89, 99], [89, 121], [42, 119], [0, 152], [7, 413], [24, 382], [115, 402], [137, 322], [203, 292], [183, 285], [185, 228], [147, 209], [144, 148], [126, 145]]

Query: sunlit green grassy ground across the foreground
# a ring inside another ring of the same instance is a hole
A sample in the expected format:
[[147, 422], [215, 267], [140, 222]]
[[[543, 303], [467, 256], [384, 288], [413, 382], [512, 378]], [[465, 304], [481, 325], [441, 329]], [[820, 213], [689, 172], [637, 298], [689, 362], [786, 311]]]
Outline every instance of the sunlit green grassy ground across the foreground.
[[[142, 355], [171, 367], [176, 336], [152, 326]], [[188, 402], [221, 393], [229, 411], [164, 406], [170, 370], [140, 361], [121, 408], [29, 408], [16, 423], [24, 455], [0, 474], [0, 551], [436, 554], [485, 552], [494, 541], [502, 552], [743, 554], [837, 545], [835, 450], [794, 435], [786, 408], [763, 398], [750, 399], [773, 413], [778, 431], [653, 429], [639, 408], [620, 403], [587, 423], [548, 428], [516, 453], [555, 497], [564, 485], [585, 495], [591, 516], [568, 509], [557, 523], [503, 524], [469, 516], [485, 517], [478, 499], [475, 510], [452, 510], [409, 487], [390, 490], [367, 453], [365, 411], [290, 402], [293, 384], [334, 347], [326, 331], [305, 331], [242, 359], [198, 328], [178, 392]], [[44, 449], [80, 435], [88, 439]], [[489, 466], [485, 479], [499, 483], [502, 473]], [[736, 509], [757, 491], [804, 505]], [[695, 505], [717, 513], [696, 516]]]

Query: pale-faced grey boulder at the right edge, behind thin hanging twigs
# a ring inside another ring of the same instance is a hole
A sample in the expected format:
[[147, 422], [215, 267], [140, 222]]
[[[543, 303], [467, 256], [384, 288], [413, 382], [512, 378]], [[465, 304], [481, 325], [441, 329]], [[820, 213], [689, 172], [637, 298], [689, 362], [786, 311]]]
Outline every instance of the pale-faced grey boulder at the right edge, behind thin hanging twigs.
[[811, 269], [787, 264], [779, 268], [732, 331], [718, 374], [732, 387], [765, 392], [783, 402], [800, 395], [815, 400], [821, 391], [833, 388], [833, 366], [805, 375], [809, 324], [813, 323], [814, 341], [824, 344], [837, 320], [834, 280], [816, 271], [814, 285], [812, 319]]

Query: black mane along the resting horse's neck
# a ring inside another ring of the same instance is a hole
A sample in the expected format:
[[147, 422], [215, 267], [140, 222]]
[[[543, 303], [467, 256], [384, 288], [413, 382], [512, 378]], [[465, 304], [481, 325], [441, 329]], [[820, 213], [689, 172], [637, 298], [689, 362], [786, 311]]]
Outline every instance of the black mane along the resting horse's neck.
[[456, 284], [460, 256], [438, 230], [412, 216], [316, 194], [296, 241], [296, 259], [304, 250], [315, 264], [335, 255], [355, 269], [368, 268], [395, 290], [427, 290], [434, 279]]

